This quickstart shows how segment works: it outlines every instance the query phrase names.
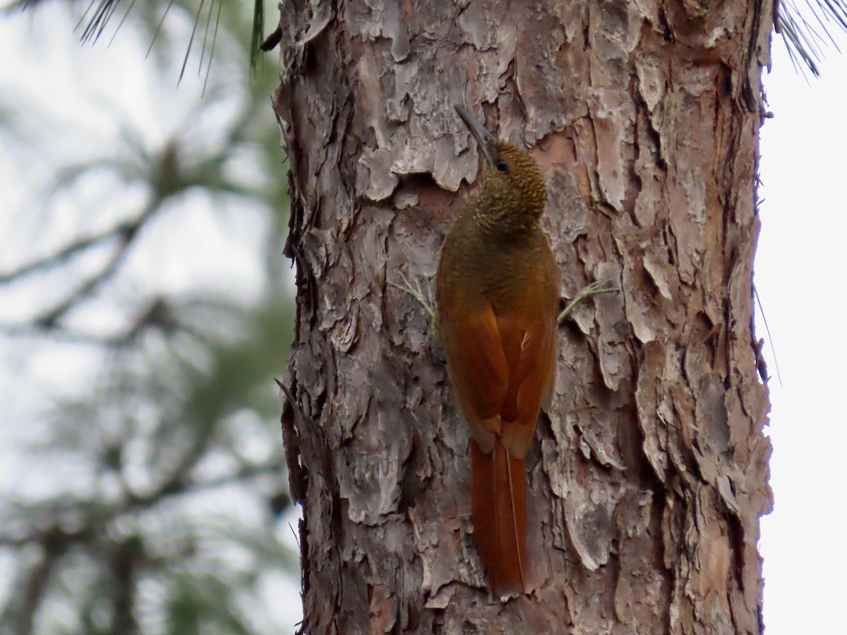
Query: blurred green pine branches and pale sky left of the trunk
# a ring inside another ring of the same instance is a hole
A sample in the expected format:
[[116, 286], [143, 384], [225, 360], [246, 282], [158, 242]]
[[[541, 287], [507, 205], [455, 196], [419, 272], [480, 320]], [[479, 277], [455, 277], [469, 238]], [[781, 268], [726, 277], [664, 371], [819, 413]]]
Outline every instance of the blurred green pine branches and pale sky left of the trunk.
[[115, 6], [2, 25], [0, 632], [291, 631], [276, 64], [244, 3]]

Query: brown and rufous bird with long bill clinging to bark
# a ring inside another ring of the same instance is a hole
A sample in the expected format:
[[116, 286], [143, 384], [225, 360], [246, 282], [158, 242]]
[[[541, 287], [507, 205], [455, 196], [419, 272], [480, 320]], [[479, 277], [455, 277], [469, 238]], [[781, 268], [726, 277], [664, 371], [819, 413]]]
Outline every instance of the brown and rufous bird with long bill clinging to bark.
[[524, 461], [551, 403], [561, 279], [540, 225], [547, 192], [539, 165], [455, 108], [484, 157], [484, 184], [441, 247], [436, 320], [470, 428], [473, 537], [500, 599], [530, 590]]

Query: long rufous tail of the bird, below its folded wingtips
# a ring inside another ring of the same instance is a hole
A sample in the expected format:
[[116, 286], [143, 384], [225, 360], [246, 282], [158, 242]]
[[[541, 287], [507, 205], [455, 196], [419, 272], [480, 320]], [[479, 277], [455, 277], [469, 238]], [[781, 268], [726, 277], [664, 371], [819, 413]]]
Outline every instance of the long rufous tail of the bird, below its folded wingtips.
[[491, 594], [526, 593], [526, 472], [495, 436], [485, 454], [471, 439], [473, 535]]

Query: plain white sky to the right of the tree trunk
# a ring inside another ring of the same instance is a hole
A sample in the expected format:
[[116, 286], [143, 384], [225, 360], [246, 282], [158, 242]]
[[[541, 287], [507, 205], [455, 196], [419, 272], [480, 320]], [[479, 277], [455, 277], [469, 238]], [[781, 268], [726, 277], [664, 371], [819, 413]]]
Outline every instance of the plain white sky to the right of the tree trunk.
[[[761, 522], [765, 625], [768, 635], [833, 633], [844, 628], [847, 593], [847, 417], [839, 396], [847, 395], [847, 340], [835, 328], [847, 312], [847, 55], [830, 49], [822, 79], [810, 86], [782, 41], [774, 38], [772, 49], [765, 89], [775, 116], [761, 131], [756, 288], [783, 385], [766, 351], [775, 504]], [[756, 329], [769, 339], [758, 316]]]

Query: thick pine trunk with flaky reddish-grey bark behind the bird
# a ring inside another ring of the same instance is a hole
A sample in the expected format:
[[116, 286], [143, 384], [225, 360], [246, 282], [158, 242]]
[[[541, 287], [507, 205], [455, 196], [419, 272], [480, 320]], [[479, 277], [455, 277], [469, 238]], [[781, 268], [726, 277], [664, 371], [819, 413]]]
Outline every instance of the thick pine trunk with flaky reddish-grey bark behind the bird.
[[[282, 3], [304, 632], [761, 631], [751, 272], [771, 25], [761, 0]], [[394, 286], [432, 288], [479, 174], [453, 104], [540, 163], [564, 293], [621, 287], [560, 329], [527, 457], [534, 591], [505, 604], [473, 542], [443, 353]]]

